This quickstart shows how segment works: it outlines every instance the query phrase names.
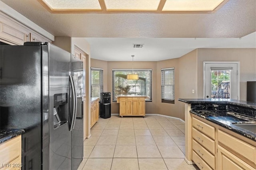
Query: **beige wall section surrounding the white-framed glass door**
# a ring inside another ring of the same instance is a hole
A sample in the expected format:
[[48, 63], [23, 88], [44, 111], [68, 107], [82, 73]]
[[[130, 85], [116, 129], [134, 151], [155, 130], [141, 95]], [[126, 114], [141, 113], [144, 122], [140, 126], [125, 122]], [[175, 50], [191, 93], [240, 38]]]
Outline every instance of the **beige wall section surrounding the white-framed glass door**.
[[198, 98], [203, 98], [203, 61], [240, 61], [240, 100], [246, 100], [246, 82], [256, 81], [256, 49], [198, 49]]

